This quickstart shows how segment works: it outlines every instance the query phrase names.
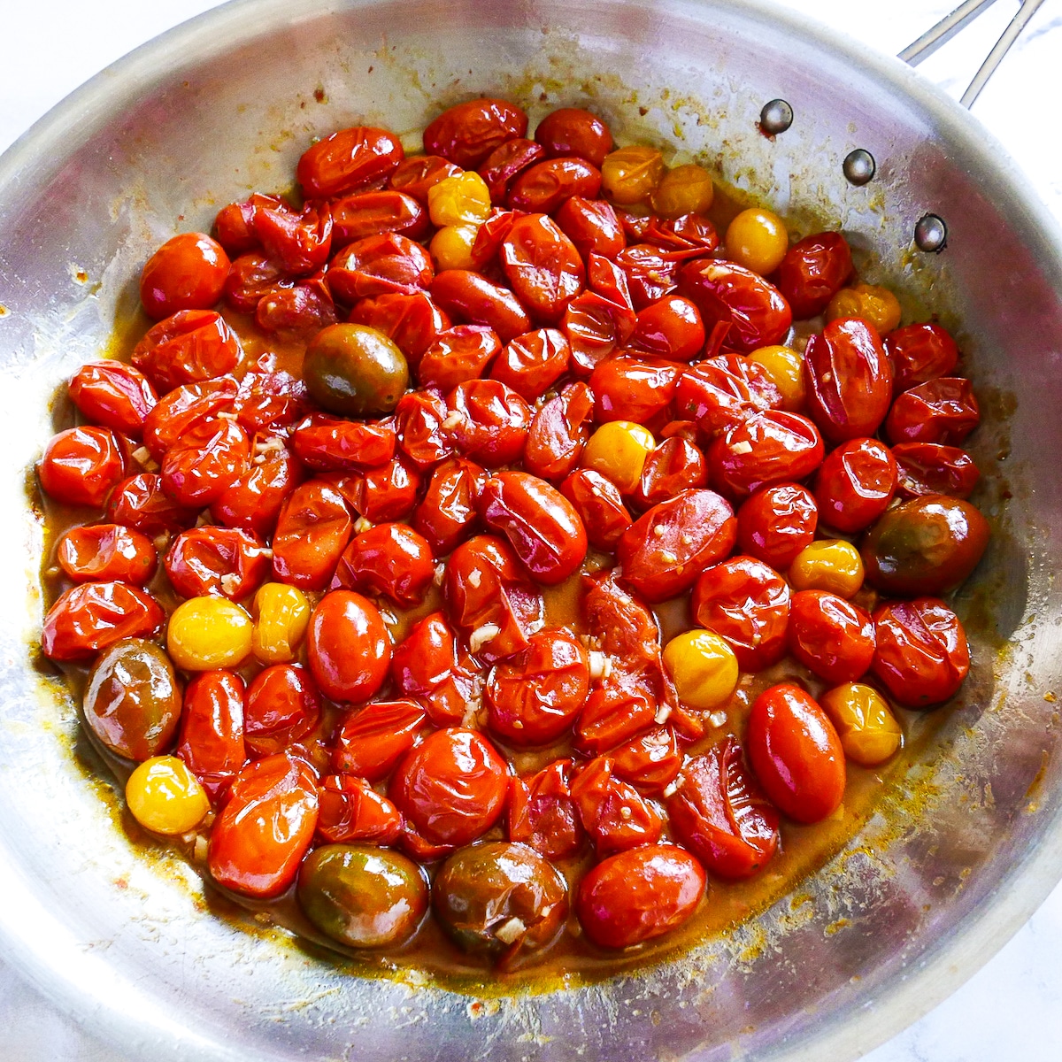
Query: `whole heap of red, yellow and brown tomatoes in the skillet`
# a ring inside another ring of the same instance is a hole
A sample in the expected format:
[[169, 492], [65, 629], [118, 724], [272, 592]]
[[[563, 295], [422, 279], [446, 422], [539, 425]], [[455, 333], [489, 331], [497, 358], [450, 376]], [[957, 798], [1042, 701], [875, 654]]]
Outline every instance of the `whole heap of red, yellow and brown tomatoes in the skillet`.
[[640, 944], [959, 688], [977, 402], [839, 233], [720, 234], [707, 171], [585, 110], [476, 100], [424, 147], [341, 130], [302, 205], [152, 256], [157, 323], [38, 465], [44, 652], [234, 893], [355, 947], [429, 904], [502, 964]]

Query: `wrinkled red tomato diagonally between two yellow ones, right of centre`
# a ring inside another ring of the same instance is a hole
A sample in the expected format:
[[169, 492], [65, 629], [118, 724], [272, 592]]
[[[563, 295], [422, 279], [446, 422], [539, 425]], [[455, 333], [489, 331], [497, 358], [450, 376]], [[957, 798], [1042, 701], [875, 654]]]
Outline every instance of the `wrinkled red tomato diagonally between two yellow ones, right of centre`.
[[752, 556], [705, 568], [693, 585], [693, 618], [730, 643], [742, 671], [761, 671], [785, 654], [789, 606], [786, 581]]

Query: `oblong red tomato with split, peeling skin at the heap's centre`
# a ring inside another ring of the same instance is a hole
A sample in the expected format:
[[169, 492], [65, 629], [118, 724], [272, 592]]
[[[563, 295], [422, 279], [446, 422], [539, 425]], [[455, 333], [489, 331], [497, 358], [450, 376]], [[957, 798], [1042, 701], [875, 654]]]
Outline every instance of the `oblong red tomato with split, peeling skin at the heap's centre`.
[[478, 508], [483, 523], [509, 539], [537, 582], [563, 582], [583, 563], [583, 523], [567, 498], [544, 479], [526, 472], [497, 473], [483, 484]]

